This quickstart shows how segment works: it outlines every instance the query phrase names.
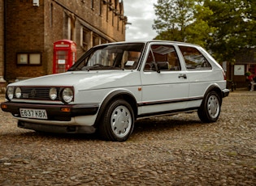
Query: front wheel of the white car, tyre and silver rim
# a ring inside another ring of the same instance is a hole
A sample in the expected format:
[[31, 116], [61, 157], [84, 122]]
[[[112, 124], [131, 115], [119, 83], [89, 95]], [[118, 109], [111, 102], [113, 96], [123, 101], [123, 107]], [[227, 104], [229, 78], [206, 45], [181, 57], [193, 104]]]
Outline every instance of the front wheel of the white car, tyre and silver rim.
[[130, 104], [115, 99], [106, 107], [98, 128], [100, 137], [107, 141], [124, 142], [134, 127], [134, 113]]

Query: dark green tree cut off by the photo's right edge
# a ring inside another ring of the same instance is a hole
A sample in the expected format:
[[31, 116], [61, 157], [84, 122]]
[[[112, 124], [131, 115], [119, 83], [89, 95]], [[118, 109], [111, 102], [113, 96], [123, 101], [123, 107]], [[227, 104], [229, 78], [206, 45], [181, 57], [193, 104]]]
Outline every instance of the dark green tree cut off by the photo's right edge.
[[256, 43], [255, 0], [205, 0], [213, 12], [205, 16], [216, 30], [207, 48], [220, 61], [233, 61], [237, 53], [254, 48]]

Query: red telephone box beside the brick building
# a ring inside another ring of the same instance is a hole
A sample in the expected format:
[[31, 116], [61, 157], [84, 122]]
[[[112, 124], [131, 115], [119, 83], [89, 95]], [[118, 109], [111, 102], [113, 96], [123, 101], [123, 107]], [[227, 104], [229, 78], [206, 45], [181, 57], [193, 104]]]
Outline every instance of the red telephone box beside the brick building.
[[66, 72], [76, 62], [76, 43], [72, 40], [54, 42], [53, 74]]

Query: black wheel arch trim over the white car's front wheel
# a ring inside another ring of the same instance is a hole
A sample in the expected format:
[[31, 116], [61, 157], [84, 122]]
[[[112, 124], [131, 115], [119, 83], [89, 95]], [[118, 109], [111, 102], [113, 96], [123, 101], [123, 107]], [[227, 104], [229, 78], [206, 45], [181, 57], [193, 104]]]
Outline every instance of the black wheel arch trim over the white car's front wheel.
[[137, 100], [129, 91], [118, 90], [118, 91], [113, 91], [113, 92], [111, 92], [111, 94], [106, 96], [106, 98], [104, 99], [104, 101], [102, 102], [102, 104], [99, 108], [98, 116], [95, 120], [94, 126], [98, 126], [98, 123], [100, 122], [100, 120], [102, 118], [102, 114], [103, 114], [104, 110], [106, 109], [106, 106], [109, 103], [111, 103], [111, 101], [113, 101], [115, 99], [124, 99], [125, 101], [127, 101], [128, 104], [130, 104], [132, 107], [133, 114], [134, 114], [134, 120], [137, 119], [137, 112], [138, 112]]

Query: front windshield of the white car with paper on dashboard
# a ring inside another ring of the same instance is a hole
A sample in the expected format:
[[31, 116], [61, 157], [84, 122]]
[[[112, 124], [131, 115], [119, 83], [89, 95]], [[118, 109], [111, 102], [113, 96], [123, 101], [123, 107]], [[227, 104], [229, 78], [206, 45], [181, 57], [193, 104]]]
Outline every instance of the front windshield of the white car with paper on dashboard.
[[71, 70], [134, 70], [137, 68], [142, 43], [100, 45], [85, 53]]

